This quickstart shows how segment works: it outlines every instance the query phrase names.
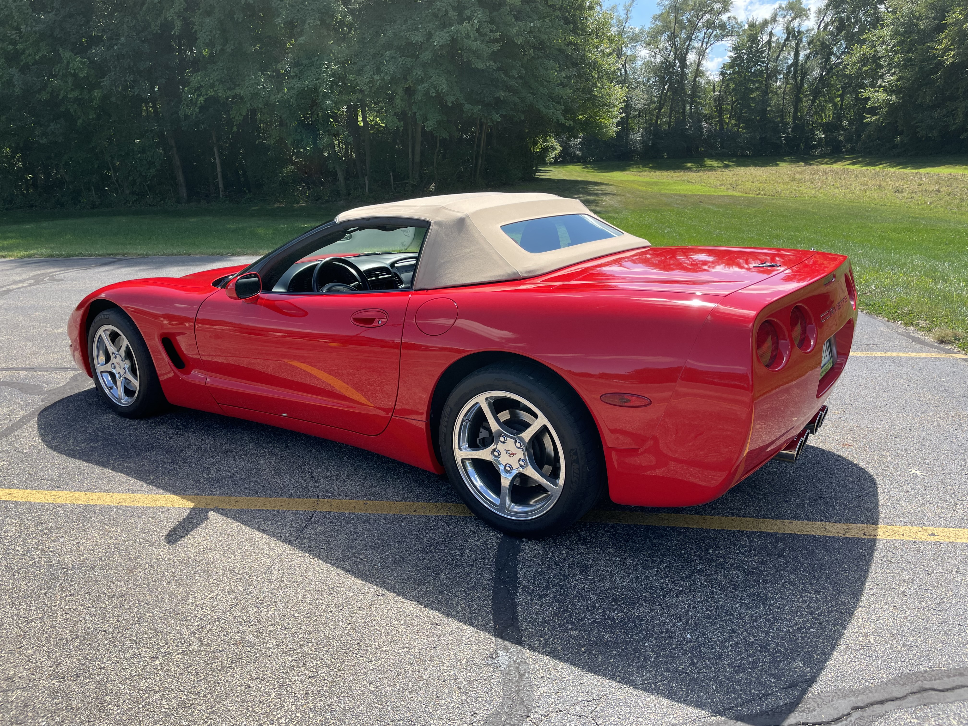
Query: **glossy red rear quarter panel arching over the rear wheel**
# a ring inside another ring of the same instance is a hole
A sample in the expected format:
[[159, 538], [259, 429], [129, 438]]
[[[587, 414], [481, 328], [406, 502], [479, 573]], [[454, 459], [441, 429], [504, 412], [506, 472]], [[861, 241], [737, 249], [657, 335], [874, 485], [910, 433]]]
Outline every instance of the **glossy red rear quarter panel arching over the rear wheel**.
[[[438, 298], [454, 301], [457, 318], [445, 331], [427, 334], [416, 324], [417, 311]], [[718, 299], [681, 292], [521, 289], [520, 283], [414, 292], [394, 415], [433, 421], [435, 390], [452, 366], [475, 354], [520, 355], [546, 366], [578, 393], [606, 449], [637, 450], [662, 418], [693, 340]], [[644, 396], [651, 405], [608, 406], [601, 400], [608, 393]]]

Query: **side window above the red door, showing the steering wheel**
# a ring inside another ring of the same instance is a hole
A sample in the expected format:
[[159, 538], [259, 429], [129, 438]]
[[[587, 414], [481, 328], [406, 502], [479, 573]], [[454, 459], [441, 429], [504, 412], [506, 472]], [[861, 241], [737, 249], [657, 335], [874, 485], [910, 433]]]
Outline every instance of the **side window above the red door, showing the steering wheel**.
[[[291, 264], [274, 292], [350, 293], [408, 289], [428, 227], [351, 227]], [[317, 243], [319, 244], [319, 243]]]

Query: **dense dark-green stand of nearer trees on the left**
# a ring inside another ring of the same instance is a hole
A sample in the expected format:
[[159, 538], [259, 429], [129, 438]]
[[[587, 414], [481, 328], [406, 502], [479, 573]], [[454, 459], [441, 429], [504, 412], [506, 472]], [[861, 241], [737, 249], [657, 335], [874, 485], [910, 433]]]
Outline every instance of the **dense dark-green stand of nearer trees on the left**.
[[615, 43], [597, 0], [0, 0], [0, 204], [513, 182], [614, 134]]

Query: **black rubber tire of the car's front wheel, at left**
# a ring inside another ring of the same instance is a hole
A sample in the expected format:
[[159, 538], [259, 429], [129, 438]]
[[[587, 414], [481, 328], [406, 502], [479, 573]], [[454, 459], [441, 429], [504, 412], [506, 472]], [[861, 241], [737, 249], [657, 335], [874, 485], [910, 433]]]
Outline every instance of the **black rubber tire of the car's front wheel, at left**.
[[[120, 340], [117, 334], [124, 336], [128, 345], [118, 347], [121, 356], [117, 361], [118, 370], [123, 370], [124, 366], [128, 367], [129, 372], [137, 380], [136, 390], [130, 380], [123, 376], [119, 378], [112, 370], [105, 370], [103, 375], [99, 374], [97, 370], [99, 362], [110, 365], [114, 361], [110, 357], [106, 344], [99, 344], [98, 338], [102, 332], [106, 333], [108, 342], [113, 341], [113, 343]], [[103, 354], [108, 353], [105, 360], [99, 359], [97, 350], [99, 347], [102, 348]], [[151, 359], [151, 353], [148, 352], [148, 347], [141, 333], [138, 332], [135, 321], [123, 310], [108, 308], [91, 321], [91, 327], [87, 333], [87, 354], [91, 362], [91, 373], [94, 376], [94, 387], [98, 389], [107, 406], [119, 416], [144, 418], [166, 408], [167, 401], [158, 379], [158, 372], [155, 370], [155, 362]], [[117, 387], [118, 380], [121, 380], [120, 392]]]

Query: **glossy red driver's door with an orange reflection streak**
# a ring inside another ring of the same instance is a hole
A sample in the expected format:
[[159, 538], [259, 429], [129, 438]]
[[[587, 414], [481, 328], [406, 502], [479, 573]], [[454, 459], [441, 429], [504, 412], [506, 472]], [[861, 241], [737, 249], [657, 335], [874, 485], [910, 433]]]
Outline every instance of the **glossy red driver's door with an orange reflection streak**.
[[198, 351], [221, 406], [374, 436], [397, 398], [409, 290], [350, 294], [219, 290], [198, 310]]

